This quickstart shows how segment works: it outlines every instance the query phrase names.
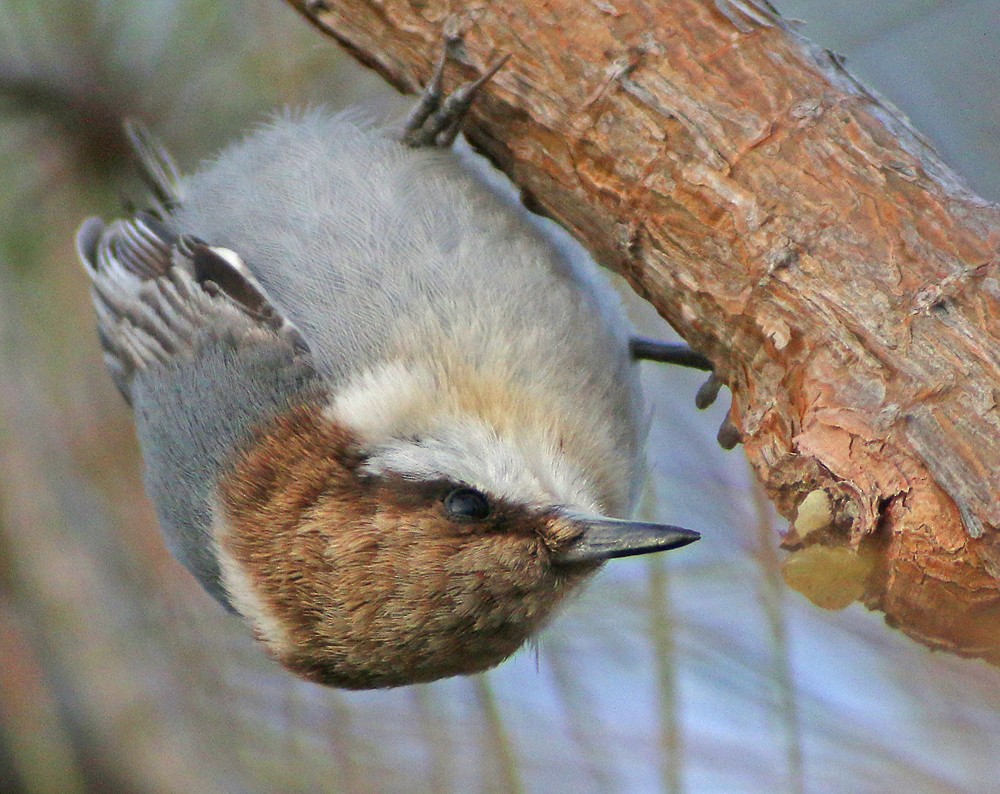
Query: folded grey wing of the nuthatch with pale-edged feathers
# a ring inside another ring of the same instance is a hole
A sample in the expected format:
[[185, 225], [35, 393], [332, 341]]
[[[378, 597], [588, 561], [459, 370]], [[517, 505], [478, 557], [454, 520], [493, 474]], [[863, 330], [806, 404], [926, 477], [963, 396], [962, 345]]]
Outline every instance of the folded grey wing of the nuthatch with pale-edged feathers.
[[230, 607], [212, 534], [218, 480], [274, 417], [327, 399], [326, 383], [235, 252], [175, 234], [150, 213], [91, 218], [77, 249], [167, 545]]

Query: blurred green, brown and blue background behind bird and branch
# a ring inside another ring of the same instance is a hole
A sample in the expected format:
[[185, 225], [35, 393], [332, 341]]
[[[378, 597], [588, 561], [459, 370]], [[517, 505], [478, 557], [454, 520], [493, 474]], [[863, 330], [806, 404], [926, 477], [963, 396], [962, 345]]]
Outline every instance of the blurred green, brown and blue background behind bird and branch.
[[[776, 4], [1000, 198], [996, 0]], [[118, 120], [190, 169], [274, 108], [358, 101], [408, 106], [277, 0], [0, 3], [0, 792], [1000, 791], [1000, 670], [785, 588], [696, 374], [644, 373], [648, 510], [704, 539], [610, 564], [489, 674], [299, 682], [166, 555], [72, 244], [138, 195]]]

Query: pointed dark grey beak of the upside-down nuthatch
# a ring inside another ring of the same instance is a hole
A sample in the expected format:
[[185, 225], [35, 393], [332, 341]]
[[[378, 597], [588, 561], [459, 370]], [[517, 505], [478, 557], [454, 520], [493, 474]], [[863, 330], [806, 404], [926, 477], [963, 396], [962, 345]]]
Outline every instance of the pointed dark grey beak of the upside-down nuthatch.
[[679, 549], [701, 537], [694, 530], [667, 524], [625, 521], [568, 510], [563, 511], [562, 515], [582, 529], [583, 533], [571, 546], [553, 554], [552, 561], [559, 565], [601, 562], [615, 557]]

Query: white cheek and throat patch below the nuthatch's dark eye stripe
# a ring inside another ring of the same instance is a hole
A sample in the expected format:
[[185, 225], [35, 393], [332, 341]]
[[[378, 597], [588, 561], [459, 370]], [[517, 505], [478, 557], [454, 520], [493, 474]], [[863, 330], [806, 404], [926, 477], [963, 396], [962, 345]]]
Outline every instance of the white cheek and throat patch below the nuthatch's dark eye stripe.
[[390, 363], [348, 385], [324, 412], [366, 441], [371, 474], [448, 479], [519, 504], [600, 512], [593, 489], [539, 428], [498, 432], [421, 368]]

